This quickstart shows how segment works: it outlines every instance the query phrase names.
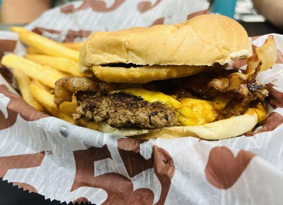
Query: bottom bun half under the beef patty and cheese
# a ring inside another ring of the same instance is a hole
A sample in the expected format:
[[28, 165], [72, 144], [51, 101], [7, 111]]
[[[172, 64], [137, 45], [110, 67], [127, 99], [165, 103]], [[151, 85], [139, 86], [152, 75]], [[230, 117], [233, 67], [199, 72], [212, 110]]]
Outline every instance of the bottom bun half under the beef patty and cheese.
[[176, 126], [153, 130], [115, 129], [107, 124], [101, 124], [100, 132], [114, 133], [124, 137], [138, 139], [198, 137], [208, 140], [226, 139], [240, 136], [251, 131], [258, 122], [254, 109], [248, 109], [244, 115], [218, 120], [201, 126]]

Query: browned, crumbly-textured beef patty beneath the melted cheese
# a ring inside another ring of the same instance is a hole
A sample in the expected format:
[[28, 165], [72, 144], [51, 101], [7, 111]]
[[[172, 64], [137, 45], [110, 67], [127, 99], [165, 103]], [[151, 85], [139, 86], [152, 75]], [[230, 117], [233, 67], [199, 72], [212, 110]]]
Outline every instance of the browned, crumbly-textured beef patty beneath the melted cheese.
[[106, 122], [114, 128], [154, 129], [178, 126], [177, 112], [161, 103], [149, 103], [126, 93], [77, 92], [74, 119]]

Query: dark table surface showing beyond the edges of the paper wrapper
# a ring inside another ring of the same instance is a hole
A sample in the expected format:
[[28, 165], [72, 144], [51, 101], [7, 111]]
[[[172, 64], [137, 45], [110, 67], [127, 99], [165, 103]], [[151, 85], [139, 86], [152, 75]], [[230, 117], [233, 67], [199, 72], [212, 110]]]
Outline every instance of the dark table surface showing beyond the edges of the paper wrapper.
[[[270, 23], [267, 22], [239, 22], [248, 32], [249, 36], [257, 36], [264, 35], [268, 33], [279, 33], [283, 34], [283, 30], [274, 27]], [[7, 183], [7, 181], [3, 181], [0, 178], [0, 201], [3, 205], [24, 205], [24, 204], [41, 204], [41, 205], [59, 205], [59, 204], [67, 204], [60, 203], [59, 201], [50, 199], [45, 200], [44, 196], [28, 193], [28, 191], [23, 191], [23, 189], [18, 189], [17, 187], [13, 187], [11, 183]], [[71, 202], [69, 204], [72, 204]], [[68, 204], [68, 205], [69, 205]], [[75, 203], [78, 204], [78, 203]], [[83, 204], [83, 203], [82, 203]]]

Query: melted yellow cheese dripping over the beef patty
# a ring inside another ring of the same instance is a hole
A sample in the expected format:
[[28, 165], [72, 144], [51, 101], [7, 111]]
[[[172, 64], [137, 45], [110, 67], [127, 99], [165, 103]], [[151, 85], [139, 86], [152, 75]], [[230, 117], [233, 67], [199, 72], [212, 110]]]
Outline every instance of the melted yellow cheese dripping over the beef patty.
[[174, 95], [166, 95], [161, 92], [140, 88], [111, 91], [110, 93], [124, 92], [143, 98], [149, 103], [163, 103], [171, 106], [178, 112], [178, 121], [182, 126], [204, 125], [216, 118], [216, 109], [225, 108], [229, 98], [224, 95], [216, 97], [215, 101], [199, 100], [193, 98], [176, 99]]

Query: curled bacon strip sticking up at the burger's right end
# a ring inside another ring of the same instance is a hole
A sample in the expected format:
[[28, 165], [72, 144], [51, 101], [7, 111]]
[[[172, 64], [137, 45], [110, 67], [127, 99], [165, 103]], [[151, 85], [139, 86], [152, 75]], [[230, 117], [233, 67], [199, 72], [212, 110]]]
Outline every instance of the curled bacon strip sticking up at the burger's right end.
[[[246, 70], [221, 70], [210, 74], [196, 74], [181, 79], [172, 79], [175, 84], [197, 93], [212, 93], [211, 88], [220, 92], [228, 92], [247, 96], [246, 84], [253, 83], [256, 75], [271, 68], [276, 61], [276, 43], [270, 35], [265, 44], [256, 48], [256, 53], [248, 58]], [[214, 92], [217, 94], [217, 92]]]

